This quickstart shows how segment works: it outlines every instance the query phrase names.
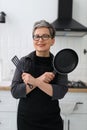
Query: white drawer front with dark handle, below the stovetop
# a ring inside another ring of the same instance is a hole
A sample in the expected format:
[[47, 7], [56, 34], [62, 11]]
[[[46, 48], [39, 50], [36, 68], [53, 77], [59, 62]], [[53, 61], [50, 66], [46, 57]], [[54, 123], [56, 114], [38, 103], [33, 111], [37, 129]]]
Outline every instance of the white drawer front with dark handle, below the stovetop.
[[87, 113], [87, 94], [68, 93], [60, 100], [61, 113], [68, 115], [72, 113]]

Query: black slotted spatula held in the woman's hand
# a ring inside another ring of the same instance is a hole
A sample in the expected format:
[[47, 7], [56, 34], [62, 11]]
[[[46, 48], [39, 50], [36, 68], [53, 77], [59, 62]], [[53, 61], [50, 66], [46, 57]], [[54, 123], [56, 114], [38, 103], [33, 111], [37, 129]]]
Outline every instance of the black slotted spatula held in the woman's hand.
[[[24, 70], [23, 70], [23, 67], [21, 66], [21, 63], [20, 63], [20, 60], [19, 60], [19, 58], [15, 55], [12, 59], [11, 59], [11, 61], [14, 63], [14, 65], [16, 66], [16, 68], [21, 72], [22, 71], [22, 73], [24, 72]], [[31, 85], [31, 84], [27, 84], [29, 87], [30, 87], [30, 89], [32, 89], [33, 88], [33, 85]]]

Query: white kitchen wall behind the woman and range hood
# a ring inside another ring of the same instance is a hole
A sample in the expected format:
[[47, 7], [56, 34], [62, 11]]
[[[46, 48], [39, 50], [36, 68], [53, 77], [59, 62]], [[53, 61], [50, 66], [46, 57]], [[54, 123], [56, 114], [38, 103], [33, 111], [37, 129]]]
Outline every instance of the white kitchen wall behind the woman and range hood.
[[[30, 53], [33, 48], [32, 27], [35, 21], [57, 18], [58, 0], [0, 0], [0, 12], [6, 13], [6, 23], [0, 23], [0, 82], [11, 81], [15, 66], [11, 58]], [[73, 18], [87, 26], [87, 0], [73, 0]], [[69, 74], [69, 80], [87, 82], [87, 36], [56, 37], [51, 48], [54, 55], [63, 48], [74, 49], [79, 56], [77, 68]]]

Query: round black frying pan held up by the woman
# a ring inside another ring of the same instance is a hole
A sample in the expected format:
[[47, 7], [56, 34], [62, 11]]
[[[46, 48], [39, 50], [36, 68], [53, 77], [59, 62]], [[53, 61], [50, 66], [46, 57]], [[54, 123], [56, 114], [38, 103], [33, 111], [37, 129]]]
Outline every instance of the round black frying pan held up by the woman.
[[63, 75], [72, 72], [78, 64], [77, 53], [65, 48], [60, 50], [53, 59], [54, 73], [61, 73]]

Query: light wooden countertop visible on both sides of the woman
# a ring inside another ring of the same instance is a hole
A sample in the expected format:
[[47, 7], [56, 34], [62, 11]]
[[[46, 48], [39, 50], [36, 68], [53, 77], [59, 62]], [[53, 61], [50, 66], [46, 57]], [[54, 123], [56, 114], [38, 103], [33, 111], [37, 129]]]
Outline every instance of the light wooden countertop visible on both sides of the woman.
[[[0, 86], [0, 91], [10, 91], [10, 86]], [[68, 92], [84, 92], [87, 93], [87, 88], [69, 88]]]

